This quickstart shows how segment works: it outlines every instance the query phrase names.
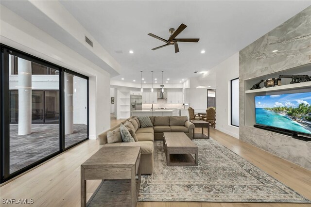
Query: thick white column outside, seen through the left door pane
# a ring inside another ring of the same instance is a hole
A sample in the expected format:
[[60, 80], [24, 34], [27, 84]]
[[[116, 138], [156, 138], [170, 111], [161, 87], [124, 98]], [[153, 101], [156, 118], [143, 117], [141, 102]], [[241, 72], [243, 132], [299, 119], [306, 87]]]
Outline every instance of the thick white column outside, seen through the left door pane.
[[18, 58], [18, 135], [31, 134], [31, 62]]

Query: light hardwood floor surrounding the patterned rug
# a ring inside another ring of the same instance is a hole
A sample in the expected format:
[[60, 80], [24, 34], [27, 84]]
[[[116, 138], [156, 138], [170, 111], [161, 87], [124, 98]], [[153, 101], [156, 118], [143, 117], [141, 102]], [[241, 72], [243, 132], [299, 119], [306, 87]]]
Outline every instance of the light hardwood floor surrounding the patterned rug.
[[[111, 126], [120, 120], [111, 120]], [[195, 129], [200, 133], [201, 128]], [[204, 131], [207, 134], [205, 129]], [[311, 171], [244, 143], [218, 130], [210, 137], [311, 200]], [[34, 199], [36, 207], [79, 207], [80, 165], [98, 150], [97, 140], [81, 143], [0, 188], [0, 198]], [[87, 181], [87, 199], [99, 180]], [[1, 202], [1, 200], [0, 200]], [[17, 206], [17, 205], [4, 205]], [[138, 207], [311, 207], [311, 204], [140, 202]]]

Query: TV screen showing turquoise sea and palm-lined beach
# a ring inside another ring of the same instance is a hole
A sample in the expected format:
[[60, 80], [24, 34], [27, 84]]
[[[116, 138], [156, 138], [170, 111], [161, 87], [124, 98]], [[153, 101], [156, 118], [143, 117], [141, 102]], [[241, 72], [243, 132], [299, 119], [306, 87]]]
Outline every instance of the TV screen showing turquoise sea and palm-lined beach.
[[255, 96], [256, 123], [311, 134], [311, 92]]

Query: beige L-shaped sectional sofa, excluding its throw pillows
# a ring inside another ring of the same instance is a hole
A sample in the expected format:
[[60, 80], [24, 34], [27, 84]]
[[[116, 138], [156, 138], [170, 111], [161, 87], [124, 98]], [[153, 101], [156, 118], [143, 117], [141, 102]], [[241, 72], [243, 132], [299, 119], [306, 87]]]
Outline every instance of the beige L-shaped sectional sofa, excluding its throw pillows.
[[[133, 117], [123, 121], [129, 121]], [[192, 140], [194, 125], [187, 116], [150, 116], [153, 127], [138, 128], [135, 131], [138, 142], [134, 143], [107, 143], [107, 132], [120, 127], [117, 125], [98, 135], [100, 148], [103, 146], [140, 146], [141, 147], [141, 174], [148, 175], [154, 171], [154, 140], [163, 140], [163, 132], [185, 132]]]

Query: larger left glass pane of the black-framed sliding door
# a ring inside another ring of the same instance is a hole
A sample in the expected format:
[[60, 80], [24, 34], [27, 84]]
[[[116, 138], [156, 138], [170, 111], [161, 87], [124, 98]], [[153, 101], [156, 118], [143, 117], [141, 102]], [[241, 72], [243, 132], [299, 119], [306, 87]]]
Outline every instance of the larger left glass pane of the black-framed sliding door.
[[[51, 68], [13, 55], [9, 55], [9, 60], [12, 174], [60, 150], [60, 102], [59, 75], [51, 73]], [[34, 76], [34, 65], [36, 73], [43, 76]], [[46, 123], [51, 124], [42, 125]]]

